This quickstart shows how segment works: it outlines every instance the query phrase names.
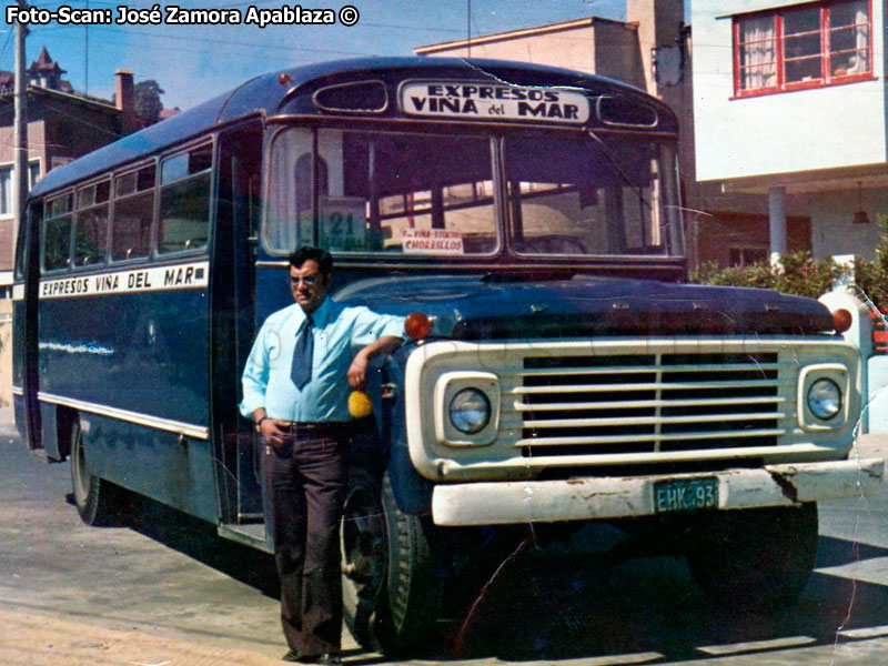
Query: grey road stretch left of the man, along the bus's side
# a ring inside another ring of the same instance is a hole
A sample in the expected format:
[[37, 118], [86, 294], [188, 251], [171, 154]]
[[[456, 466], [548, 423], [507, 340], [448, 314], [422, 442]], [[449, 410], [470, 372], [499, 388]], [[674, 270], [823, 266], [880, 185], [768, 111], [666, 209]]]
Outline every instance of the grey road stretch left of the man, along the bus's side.
[[285, 652], [268, 557], [158, 505], [142, 526], [88, 527], [70, 492], [67, 463], [0, 437], [0, 612]]

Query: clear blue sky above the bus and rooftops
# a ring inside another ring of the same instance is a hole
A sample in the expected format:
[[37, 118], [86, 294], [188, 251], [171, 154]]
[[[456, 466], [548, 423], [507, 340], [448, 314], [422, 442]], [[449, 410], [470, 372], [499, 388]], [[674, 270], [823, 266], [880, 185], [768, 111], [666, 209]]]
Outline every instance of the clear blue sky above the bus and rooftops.
[[[6, 0], [6, 6], [13, 0]], [[36, 0], [40, 9], [103, 9], [114, 20], [118, 7], [151, 9], [151, 0]], [[352, 6], [357, 23], [335, 26], [182, 26], [160, 24], [63, 26], [58, 21], [30, 26], [27, 62], [46, 47], [64, 79], [78, 91], [111, 99], [114, 71], [127, 69], [134, 80], [155, 80], [168, 109], [188, 109], [243, 81], [282, 68], [362, 56], [410, 56], [423, 44], [465, 39], [544, 23], [597, 16], [625, 19], [625, 0], [342, 0], [293, 2], [286, 0], [179, 0], [160, 2], [185, 10], [235, 9], [245, 19], [251, 7], [280, 10]], [[470, 19], [471, 17], [471, 19]], [[3, 16], [0, 30], [0, 69], [14, 69], [14, 40]]]

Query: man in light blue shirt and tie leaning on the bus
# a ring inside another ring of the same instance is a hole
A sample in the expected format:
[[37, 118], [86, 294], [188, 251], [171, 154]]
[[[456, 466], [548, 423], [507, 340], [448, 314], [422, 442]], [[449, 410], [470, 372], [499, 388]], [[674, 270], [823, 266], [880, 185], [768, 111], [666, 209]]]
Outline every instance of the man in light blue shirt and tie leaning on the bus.
[[404, 331], [403, 317], [327, 299], [332, 269], [319, 248], [290, 255], [295, 304], [265, 320], [243, 372], [241, 413], [264, 440], [284, 660], [303, 664], [340, 663], [349, 387], [366, 386], [370, 360]]

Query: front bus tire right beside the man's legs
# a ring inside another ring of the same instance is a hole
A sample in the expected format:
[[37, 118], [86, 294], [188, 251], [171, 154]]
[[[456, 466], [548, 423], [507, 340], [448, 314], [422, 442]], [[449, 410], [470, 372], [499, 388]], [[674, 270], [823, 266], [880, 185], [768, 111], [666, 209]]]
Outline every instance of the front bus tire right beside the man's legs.
[[402, 513], [389, 477], [352, 468], [343, 511], [345, 623], [365, 648], [386, 655], [427, 646], [442, 583], [418, 516]]

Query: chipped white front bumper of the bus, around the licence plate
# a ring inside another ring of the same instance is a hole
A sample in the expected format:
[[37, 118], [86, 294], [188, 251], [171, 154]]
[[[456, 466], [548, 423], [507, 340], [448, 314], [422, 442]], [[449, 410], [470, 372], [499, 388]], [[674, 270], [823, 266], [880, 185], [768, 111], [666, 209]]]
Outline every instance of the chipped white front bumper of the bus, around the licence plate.
[[884, 467], [881, 458], [861, 458], [705, 474], [442, 484], [434, 488], [432, 516], [444, 526], [648, 516], [657, 513], [656, 482], [700, 477], [717, 480], [719, 509], [791, 506], [876, 493]]

